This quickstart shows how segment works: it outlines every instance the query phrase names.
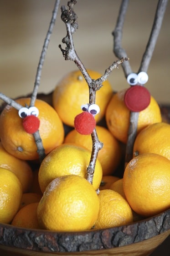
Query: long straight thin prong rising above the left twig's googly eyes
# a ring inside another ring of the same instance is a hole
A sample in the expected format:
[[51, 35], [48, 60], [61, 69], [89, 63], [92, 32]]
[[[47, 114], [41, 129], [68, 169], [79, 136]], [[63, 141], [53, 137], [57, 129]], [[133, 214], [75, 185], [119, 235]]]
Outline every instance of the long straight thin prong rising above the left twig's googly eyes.
[[57, 12], [58, 12], [59, 4], [60, 4], [60, 0], [56, 0], [55, 5], [54, 5], [54, 9], [53, 9], [53, 12], [52, 12], [52, 19], [51, 19], [50, 26], [49, 26], [47, 34], [46, 34], [46, 38], [45, 38], [44, 45], [43, 45], [42, 52], [41, 52], [41, 56], [40, 56], [40, 61], [39, 61], [37, 72], [36, 72], [36, 80], [35, 80], [34, 89], [33, 89], [32, 95], [31, 95], [30, 107], [35, 105], [36, 96], [37, 96], [38, 88], [39, 88], [39, 85], [40, 85], [42, 66], [44, 64], [44, 60], [45, 60], [45, 57], [46, 57], [46, 51], [47, 51], [47, 48], [48, 48], [48, 45], [49, 45], [49, 42], [50, 42], [50, 37], [51, 37], [51, 34], [52, 34], [53, 27], [55, 25], [55, 21], [56, 21], [56, 18], [57, 18]]

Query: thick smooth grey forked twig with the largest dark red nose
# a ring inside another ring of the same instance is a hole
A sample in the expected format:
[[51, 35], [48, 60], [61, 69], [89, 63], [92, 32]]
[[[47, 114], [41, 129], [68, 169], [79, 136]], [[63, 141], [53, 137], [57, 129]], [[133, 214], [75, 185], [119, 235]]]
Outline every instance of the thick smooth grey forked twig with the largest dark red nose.
[[[149, 63], [152, 58], [155, 44], [157, 41], [157, 37], [160, 32], [160, 27], [165, 14], [167, 2], [168, 0], [159, 0], [158, 2], [154, 24], [152, 27], [148, 44], [146, 46], [146, 50], [143, 55], [143, 59], [140, 64], [139, 72], [141, 71], [147, 72], [148, 70]], [[113, 31], [113, 38], [114, 38], [113, 52], [118, 58], [120, 58], [120, 56], [123, 56], [123, 54], [126, 54], [125, 50], [122, 48], [121, 45], [122, 45], [124, 18], [128, 8], [128, 4], [129, 4], [129, 0], [122, 0], [116, 27]], [[129, 62], [125, 62], [122, 65], [122, 67], [124, 69], [125, 77], [127, 77], [130, 73], [132, 73], [132, 69], [130, 67]], [[137, 134], [138, 117], [139, 117], [139, 112], [130, 112], [128, 141], [127, 141], [126, 155], [125, 155], [125, 166], [129, 162], [129, 160], [131, 160], [133, 157], [133, 145], [134, 145], [134, 140]]]

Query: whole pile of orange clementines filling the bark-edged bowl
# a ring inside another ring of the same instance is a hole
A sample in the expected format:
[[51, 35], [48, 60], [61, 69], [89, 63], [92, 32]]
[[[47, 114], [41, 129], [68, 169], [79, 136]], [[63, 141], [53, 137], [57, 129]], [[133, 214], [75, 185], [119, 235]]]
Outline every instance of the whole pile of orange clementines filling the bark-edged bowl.
[[[92, 79], [101, 76], [93, 70], [88, 74]], [[64, 232], [106, 229], [170, 208], [170, 124], [162, 122], [152, 96], [149, 106], [139, 112], [133, 158], [124, 170], [130, 118], [124, 103], [126, 90], [113, 93], [106, 81], [96, 92], [100, 112], [94, 118], [103, 148], [93, 182], [87, 173], [95, 146], [92, 136], [74, 128], [81, 105], [89, 101], [80, 71], [59, 81], [52, 106], [36, 100], [41, 139], [26, 132], [14, 107], [4, 108], [0, 114], [1, 223]], [[30, 104], [30, 98], [16, 101], [26, 108]], [[36, 143], [41, 142], [45, 157], [40, 162]]]

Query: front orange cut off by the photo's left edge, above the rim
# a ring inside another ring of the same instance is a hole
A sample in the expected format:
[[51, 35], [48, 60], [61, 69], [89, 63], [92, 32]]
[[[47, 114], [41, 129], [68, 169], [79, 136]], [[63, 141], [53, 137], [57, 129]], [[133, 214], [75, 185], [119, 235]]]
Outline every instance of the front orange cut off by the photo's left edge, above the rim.
[[17, 176], [0, 167], [0, 223], [9, 224], [17, 213], [22, 197], [22, 186]]

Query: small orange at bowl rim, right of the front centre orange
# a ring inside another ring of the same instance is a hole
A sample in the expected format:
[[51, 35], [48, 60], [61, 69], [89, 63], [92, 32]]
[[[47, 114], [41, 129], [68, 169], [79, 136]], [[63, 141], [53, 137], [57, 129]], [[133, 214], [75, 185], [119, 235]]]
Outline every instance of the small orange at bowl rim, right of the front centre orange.
[[100, 203], [95, 229], [108, 229], [129, 224], [133, 221], [129, 203], [118, 192], [111, 189], [101, 190], [98, 194]]

